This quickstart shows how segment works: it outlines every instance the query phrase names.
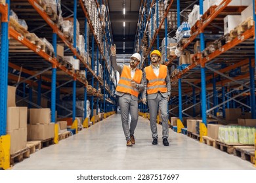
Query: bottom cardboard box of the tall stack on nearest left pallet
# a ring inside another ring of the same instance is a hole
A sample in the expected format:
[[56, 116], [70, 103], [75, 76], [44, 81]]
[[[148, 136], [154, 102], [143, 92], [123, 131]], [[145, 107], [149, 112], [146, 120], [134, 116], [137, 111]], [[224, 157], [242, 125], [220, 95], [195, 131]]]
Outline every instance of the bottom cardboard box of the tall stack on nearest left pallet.
[[26, 144], [27, 144], [27, 128], [26, 127], [7, 131], [7, 134], [11, 135], [10, 154], [14, 154], [19, 150], [26, 148]]

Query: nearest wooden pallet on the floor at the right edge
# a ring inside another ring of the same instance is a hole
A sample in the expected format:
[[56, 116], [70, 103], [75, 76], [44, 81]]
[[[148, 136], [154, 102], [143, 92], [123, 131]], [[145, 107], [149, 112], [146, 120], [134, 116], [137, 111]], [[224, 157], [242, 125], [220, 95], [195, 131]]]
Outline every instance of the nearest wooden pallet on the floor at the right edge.
[[255, 163], [254, 146], [234, 146], [233, 154], [253, 164]]

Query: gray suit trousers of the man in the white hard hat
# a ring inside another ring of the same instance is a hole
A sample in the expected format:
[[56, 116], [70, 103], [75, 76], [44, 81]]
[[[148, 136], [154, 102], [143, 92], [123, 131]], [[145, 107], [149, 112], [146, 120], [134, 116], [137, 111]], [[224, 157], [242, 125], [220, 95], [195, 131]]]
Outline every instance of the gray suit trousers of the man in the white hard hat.
[[[119, 97], [119, 106], [121, 109], [121, 120], [125, 139], [130, 140], [134, 134], [139, 118], [138, 101], [132, 99], [132, 96], [125, 94]], [[129, 112], [131, 114], [131, 125], [129, 127]]]

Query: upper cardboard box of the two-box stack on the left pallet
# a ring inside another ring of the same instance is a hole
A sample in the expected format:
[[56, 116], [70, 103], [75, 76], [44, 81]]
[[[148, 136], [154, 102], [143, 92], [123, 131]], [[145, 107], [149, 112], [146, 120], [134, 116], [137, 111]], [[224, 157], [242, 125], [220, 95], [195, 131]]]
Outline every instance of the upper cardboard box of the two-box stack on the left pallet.
[[50, 122], [50, 108], [30, 108], [30, 124], [49, 124]]

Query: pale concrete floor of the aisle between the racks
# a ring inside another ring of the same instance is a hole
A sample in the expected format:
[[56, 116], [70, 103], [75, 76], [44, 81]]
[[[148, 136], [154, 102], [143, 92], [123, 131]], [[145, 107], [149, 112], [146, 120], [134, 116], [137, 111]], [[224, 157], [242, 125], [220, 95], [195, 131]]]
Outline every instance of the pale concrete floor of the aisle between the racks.
[[153, 146], [149, 121], [139, 117], [136, 144], [127, 147], [121, 116], [116, 114], [79, 131], [77, 135], [43, 148], [16, 163], [14, 170], [140, 170], [140, 169], [245, 169], [255, 170], [249, 161], [221, 152], [169, 129], [170, 146]]

